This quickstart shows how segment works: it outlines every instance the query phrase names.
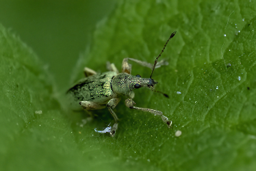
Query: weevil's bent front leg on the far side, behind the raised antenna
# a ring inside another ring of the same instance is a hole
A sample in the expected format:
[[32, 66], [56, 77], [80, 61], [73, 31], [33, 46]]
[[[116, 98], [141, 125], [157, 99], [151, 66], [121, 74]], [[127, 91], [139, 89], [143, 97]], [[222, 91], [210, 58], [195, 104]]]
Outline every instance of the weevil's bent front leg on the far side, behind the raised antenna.
[[[131, 64], [128, 63], [128, 60], [136, 62], [136, 63], [140, 64], [141, 66], [146, 66], [151, 69], [153, 68], [153, 64], [127, 57], [127, 58], [123, 59], [123, 63], [122, 63], [122, 72], [123, 73], [131, 74]], [[161, 60], [156, 64], [155, 68], [159, 68], [160, 66], [168, 65], [168, 64], [169, 63], [166, 60]]]

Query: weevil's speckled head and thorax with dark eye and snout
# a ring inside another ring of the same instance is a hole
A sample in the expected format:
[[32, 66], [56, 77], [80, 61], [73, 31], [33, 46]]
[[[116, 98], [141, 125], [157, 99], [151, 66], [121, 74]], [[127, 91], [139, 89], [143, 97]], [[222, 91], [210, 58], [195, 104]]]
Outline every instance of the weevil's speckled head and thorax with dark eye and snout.
[[154, 90], [156, 84], [157, 81], [142, 78], [140, 75], [133, 76], [127, 73], [120, 73], [112, 79], [112, 90], [116, 94], [133, 98], [133, 90], [143, 87]]

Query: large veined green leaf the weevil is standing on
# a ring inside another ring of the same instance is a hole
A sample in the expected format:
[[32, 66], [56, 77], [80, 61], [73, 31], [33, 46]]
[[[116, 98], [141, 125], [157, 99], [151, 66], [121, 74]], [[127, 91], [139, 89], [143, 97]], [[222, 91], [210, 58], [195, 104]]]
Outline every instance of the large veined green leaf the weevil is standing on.
[[[4, 170], [255, 170], [256, 4], [253, 1], [120, 1], [94, 32], [71, 82], [88, 66], [105, 72], [124, 57], [152, 62], [177, 31], [153, 79], [162, 94], [139, 89], [123, 101], [116, 137], [99, 135], [112, 116], [69, 111], [36, 55], [0, 27], [0, 166]], [[133, 63], [132, 63], [133, 64]], [[151, 70], [133, 64], [133, 75]], [[181, 92], [181, 94], [177, 93]], [[124, 100], [124, 99], [123, 99]], [[42, 111], [40, 114], [39, 111]], [[38, 114], [39, 113], [39, 114]], [[180, 130], [181, 136], [175, 132]]]

